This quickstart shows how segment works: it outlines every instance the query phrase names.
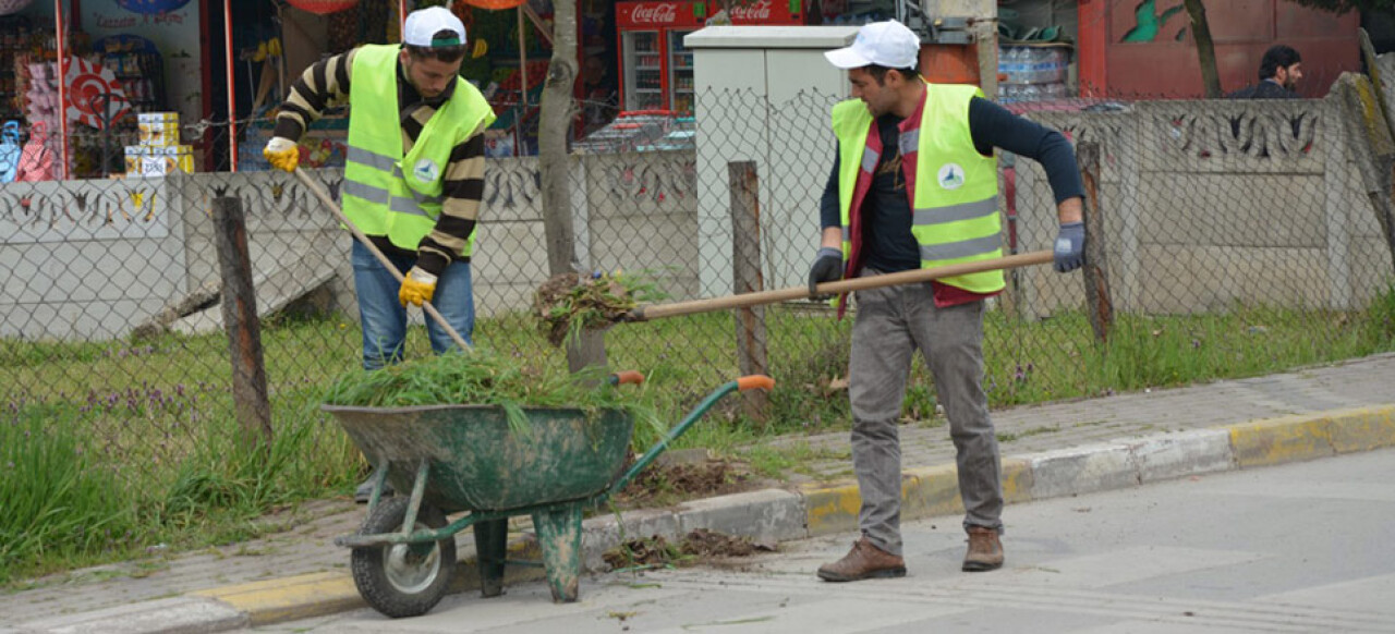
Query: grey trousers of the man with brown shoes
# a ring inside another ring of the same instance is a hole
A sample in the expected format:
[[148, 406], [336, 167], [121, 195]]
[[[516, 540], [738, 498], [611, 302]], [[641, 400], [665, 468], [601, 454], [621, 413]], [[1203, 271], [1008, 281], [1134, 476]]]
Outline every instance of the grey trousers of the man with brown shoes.
[[893, 555], [901, 555], [897, 421], [917, 348], [949, 418], [964, 527], [1003, 528], [997, 438], [983, 393], [983, 302], [936, 308], [928, 283], [858, 291], [848, 364], [852, 467], [862, 493], [858, 525], [873, 545]]

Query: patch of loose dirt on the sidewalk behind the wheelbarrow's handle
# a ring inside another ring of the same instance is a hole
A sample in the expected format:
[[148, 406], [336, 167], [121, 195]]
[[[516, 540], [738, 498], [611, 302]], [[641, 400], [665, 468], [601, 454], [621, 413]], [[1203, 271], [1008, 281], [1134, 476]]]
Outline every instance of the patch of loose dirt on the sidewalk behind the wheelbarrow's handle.
[[668, 506], [682, 500], [739, 493], [760, 486], [746, 465], [727, 460], [651, 464], [615, 495], [621, 509]]

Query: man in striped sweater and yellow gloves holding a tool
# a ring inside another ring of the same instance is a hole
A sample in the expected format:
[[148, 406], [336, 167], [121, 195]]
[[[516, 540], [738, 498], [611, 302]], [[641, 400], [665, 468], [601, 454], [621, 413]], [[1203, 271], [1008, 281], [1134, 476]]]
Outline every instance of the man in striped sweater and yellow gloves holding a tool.
[[[331, 103], [349, 100], [345, 215], [405, 275], [396, 279], [353, 241], [363, 366], [402, 359], [407, 304], [432, 302], [470, 341], [470, 255], [484, 191], [484, 128], [494, 110], [459, 77], [465, 25], [449, 10], [407, 15], [402, 45], [364, 45], [311, 65], [292, 86], [264, 155], [294, 171], [297, 141]], [[427, 320], [437, 354], [455, 347]], [[360, 486], [359, 499], [368, 489]]]

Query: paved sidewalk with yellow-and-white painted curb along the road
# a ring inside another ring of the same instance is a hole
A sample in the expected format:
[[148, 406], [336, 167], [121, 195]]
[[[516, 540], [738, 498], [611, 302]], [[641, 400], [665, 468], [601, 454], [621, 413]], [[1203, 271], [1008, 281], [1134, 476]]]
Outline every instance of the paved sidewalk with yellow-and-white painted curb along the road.
[[[1204, 386], [1120, 394], [993, 412], [1010, 503], [1138, 486], [1144, 482], [1262, 467], [1395, 446], [1395, 354]], [[953, 449], [943, 426], [901, 428], [903, 517], [961, 513]], [[624, 534], [679, 536], [710, 528], [755, 539], [799, 539], [857, 528], [845, 432], [781, 438], [823, 460], [813, 477], [764, 489], [626, 511]], [[0, 634], [226, 631], [359, 608], [347, 552], [363, 510], [325, 500], [272, 517], [264, 539], [180, 556], [152, 556], [43, 580], [0, 596]], [[1004, 517], [1011, 527], [1011, 509]], [[458, 587], [476, 582], [472, 531], [459, 536]], [[621, 541], [612, 516], [586, 521], [585, 563]], [[530, 535], [511, 546], [526, 559]], [[537, 578], [512, 567], [511, 578]], [[810, 571], [812, 574], [812, 571]], [[583, 584], [585, 585], [585, 584]], [[586, 589], [582, 596], [585, 601]]]

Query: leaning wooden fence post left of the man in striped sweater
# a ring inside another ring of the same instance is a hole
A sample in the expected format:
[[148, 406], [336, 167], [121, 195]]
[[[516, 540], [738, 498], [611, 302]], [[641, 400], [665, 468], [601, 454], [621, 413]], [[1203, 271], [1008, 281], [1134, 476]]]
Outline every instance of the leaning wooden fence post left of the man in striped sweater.
[[266, 399], [266, 366], [262, 361], [261, 320], [252, 290], [243, 201], [213, 199], [213, 241], [223, 277], [223, 329], [233, 362], [233, 404], [241, 425], [241, 442], [271, 444], [271, 403]]

